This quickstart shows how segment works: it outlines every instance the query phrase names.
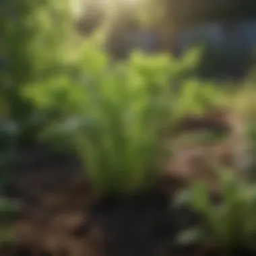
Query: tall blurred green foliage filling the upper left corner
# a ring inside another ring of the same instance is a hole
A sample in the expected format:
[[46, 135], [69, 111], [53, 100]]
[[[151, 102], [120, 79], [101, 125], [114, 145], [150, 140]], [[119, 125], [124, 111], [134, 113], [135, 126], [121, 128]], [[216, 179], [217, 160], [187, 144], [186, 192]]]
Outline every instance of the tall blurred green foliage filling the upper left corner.
[[1, 3], [1, 118], [17, 123], [19, 140], [33, 140], [37, 125], [31, 119], [32, 106], [20, 95], [23, 86], [56, 73], [63, 65], [71, 28], [67, 7], [66, 0]]

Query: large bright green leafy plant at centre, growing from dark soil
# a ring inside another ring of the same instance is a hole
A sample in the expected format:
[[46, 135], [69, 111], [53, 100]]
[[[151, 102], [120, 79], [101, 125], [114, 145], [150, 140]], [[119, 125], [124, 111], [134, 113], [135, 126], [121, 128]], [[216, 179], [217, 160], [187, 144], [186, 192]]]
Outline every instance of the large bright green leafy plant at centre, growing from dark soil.
[[51, 131], [71, 135], [96, 189], [134, 191], [154, 181], [151, 169], [161, 161], [158, 131], [174, 110], [168, 84], [174, 63], [166, 55], [134, 53], [110, 64], [106, 54], [85, 47], [75, 79], [55, 75], [24, 95], [41, 110], [62, 113]]

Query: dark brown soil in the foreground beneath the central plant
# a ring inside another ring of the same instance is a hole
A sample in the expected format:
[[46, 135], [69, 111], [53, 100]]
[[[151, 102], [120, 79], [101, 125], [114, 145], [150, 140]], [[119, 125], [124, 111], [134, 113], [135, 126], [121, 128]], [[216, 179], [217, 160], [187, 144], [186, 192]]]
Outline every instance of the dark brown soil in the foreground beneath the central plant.
[[198, 218], [172, 207], [166, 184], [126, 199], [98, 197], [77, 160], [46, 152], [23, 150], [3, 191], [22, 210], [10, 220], [15, 239], [1, 256], [219, 255], [175, 243]]

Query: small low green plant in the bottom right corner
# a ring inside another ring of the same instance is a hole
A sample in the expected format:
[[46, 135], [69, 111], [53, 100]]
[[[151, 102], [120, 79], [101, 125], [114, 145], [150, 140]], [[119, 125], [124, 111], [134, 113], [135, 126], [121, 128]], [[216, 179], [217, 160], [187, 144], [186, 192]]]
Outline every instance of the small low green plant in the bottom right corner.
[[219, 177], [222, 201], [218, 204], [211, 201], [209, 189], [202, 183], [194, 183], [187, 193], [178, 197], [177, 202], [189, 203], [203, 218], [202, 226], [185, 230], [179, 241], [210, 241], [224, 250], [238, 247], [255, 250], [255, 187], [244, 183], [230, 170], [222, 170]]

